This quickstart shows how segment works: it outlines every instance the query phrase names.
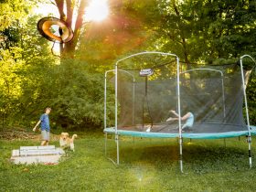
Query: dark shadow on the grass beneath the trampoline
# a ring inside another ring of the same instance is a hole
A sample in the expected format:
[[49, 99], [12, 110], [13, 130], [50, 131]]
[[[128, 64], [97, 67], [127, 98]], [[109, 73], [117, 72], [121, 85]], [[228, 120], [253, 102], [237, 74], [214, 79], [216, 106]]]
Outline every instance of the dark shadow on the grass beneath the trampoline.
[[[112, 145], [113, 159], [116, 158], [114, 148]], [[136, 165], [143, 162], [155, 165], [159, 169], [168, 167], [178, 170], [179, 156], [179, 145], [174, 140], [144, 140], [134, 143], [124, 140], [120, 144], [121, 165]], [[224, 146], [223, 140], [187, 142], [183, 144], [183, 165], [184, 170], [197, 174], [248, 170], [247, 144], [233, 140], [228, 146]]]

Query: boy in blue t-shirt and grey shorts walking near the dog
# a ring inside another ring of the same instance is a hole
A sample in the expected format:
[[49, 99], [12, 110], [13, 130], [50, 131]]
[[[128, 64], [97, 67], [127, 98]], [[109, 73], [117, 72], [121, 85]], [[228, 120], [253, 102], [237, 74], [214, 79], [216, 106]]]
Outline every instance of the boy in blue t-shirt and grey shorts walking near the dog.
[[41, 115], [40, 120], [37, 122], [36, 126], [33, 128], [33, 132], [36, 132], [37, 126], [41, 123], [41, 135], [42, 135], [42, 142], [41, 146], [48, 145], [49, 142], [49, 120], [48, 114], [51, 111], [49, 107], [46, 108], [45, 113]]

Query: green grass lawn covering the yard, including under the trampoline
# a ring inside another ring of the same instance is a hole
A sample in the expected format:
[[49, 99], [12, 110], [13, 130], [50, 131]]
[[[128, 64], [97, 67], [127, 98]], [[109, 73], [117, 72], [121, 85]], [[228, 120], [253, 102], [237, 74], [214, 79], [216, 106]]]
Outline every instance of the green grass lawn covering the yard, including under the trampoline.
[[[252, 138], [253, 140], [256, 138]], [[176, 139], [122, 137], [120, 163], [104, 155], [103, 133], [75, 141], [59, 165], [13, 165], [12, 149], [35, 141], [0, 141], [0, 191], [255, 191], [256, 161], [249, 169], [245, 137], [184, 141], [184, 174]], [[51, 144], [59, 146], [55, 141]], [[108, 155], [116, 148], [108, 140]], [[252, 143], [252, 153], [256, 144]]]

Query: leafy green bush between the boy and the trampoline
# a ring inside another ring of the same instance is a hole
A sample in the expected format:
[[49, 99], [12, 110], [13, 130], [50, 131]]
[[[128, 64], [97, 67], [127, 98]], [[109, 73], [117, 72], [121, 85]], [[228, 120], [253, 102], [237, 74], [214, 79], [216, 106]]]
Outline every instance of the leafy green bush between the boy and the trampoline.
[[73, 59], [64, 60], [54, 70], [57, 73], [52, 78], [59, 86], [52, 92], [52, 107], [59, 126], [84, 129], [101, 125], [103, 76], [91, 73], [86, 63]]

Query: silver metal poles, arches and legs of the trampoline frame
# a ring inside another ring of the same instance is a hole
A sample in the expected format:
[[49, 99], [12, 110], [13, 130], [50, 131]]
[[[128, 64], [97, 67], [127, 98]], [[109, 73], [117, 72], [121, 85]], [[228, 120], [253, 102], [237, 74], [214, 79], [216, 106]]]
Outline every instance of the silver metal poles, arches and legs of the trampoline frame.
[[[118, 113], [118, 101], [117, 101], [117, 93], [118, 93], [118, 82], [117, 82], [117, 76], [118, 76], [118, 71], [123, 71], [127, 74], [129, 74], [131, 77], [133, 77], [133, 115], [134, 115], [134, 76], [132, 73], [123, 70], [123, 69], [118, 69], [118, 64], [125, 60], [125, 59], [131, 59], [135, 56], [139, 56], [139, 55], [144, 55], [144, 54], [160, 54], [160, 55], [164, 55], [164, 56], [171, 56], [171, 57], [175, 57], [176, 58], [176, 82], [177, 82], [177, 86], [176, 86], [176, 94], [177, 94], [177, 113], [179, 115], [178, 117], [178, 133], [176, 134], [171, 134], [168, 135], [168, 133], [162, 133], [164, 136], [160, 136], [160, 137], [168, 137], [168, 138], [173, 138], [173, 137], [178, 137], [178, 141], [179, 141], [179, 165], [180, 165], [180, 171], [183, 173], [183, 160], [182, 160], [182, 155], [183, 155], [183, 134], [185, 136], [185, 138], [200, 138], [197, 136], [193, 136], [193, 134], [186, 134], [186, 133], [182, 133], [182, 129], [181, 129], [181, 112], [180, 112], [180, 74], [184, 74], [186, 72], [190, 72], [192, 70], [199, 70], [199, 69], [190, 69], [190, 70], [186, 70], [183, 72], [180, 72], [180, 65], [179, 65], [179, 58], [176, 56], [176, 54], [172, 54], [172, 53], [164, 53], [164, 52], [158, 52], [158, 51], [145, 51], [145, 52], [140, 52], [140, 53], [136, 53], [133, 55], [130, 55], [128, 57], [125, 57], [123, 59], [119, 59], [116, 61], [115, 63], [115, 67], [112, 70], [107, 70], [105, 72], [105, 87], [104, 87], [104, 133], [105, 133], [105, 155], [107, 156], [108, 159], [110, 159], [112, 161], [113, 164], [115, 165], [119, 165], [120, 164], [120, 150], [119, 150], [119, 136], [121, 134], [123, 135], [133, 135], [133, 132], [129, 131], [123, 131], [123, 130], [119, 130], [117, 128], [117, 113]], [[250, 56], [250, 55], [243, 55], [240, 57], [240, 71], [241, 71], [241, 80], [242, 80], [242, 89], [243, 89], [243, 96], [244, 96], [244, 103], [245, 103], [245, 108], [246, 108], [246, 119], [247, 119], [247, 127], [248, 127], [248, 148], [249, 148], [249, 165], [251, 168], [252, 165], [252, 160], [251, 160], [251, 127], [250, 127], [250, 117], [249, 117], [249, 111], [248, 111], [248, 103], [247, 103], [247, 97], [246, 97], [246, 84], [245, 84], [245, 80], [244, 80], [244, 74], [243, 74], [243, 64], [242, 64], [242, 59], [244, 58], [250, 58], [256, 65], [256, 61]], [[201, 69], [201, 70], [214, 70], [217, 71], [221, 74], [221, 79], [222, 79], [222, 99], [223, 99], [223, 103], [224, 103], [224, 107], [223, 107], [223, 112], [224, 112], [224, 117], [226, 115], [226, 110], [225, 110], [225, 93], [224, 93], [224, 82], [223, 82], [223, 72], [221, 70], [217, 70], [217, 69]], [[115, 107], [115, 117], [114, 117], [114, 127], [112, 128], [107, 128], [107, 117], [106, 117], [106, 113], [107, 113], [107, 75], [109, 72], [114, 72], [114, 107]], [[110, 129], [112, 129], [110, 131]], [[108, 133], [114, 133], [114, 140], [116, 143], [116, 161], [112, 160], [112, 158], [108, 157], [107, 155], [107, 140], [108, 140]], [[240, 136], [240, 135], [244, 135], [246, 132], [240, 132], [238, 134], [234, 134], [235, 136]], [[255, 132], [256, 133], [256, 132]], [[253, 133], [253, 134], [255, 134]], [[152, 135], [151, 135], [152, 134]], [[199, 134], [199, 133], [197, 133]], [[154, 133], [146, 133], [146, 135], [148, 135], [148, 137], [155, 137]], [[211, 138], [214, 139], [214, 133], [211, 134]], [[147, 137], [144, 134], [139, 134], [136, 136], [141, 136], [141, 137]], [[165, 138], [166, 138], [165, 137]], [[223, 136], [223, 138], [227, 138], [227, 137], [231, 137], [229, 136], [229, 134], [227, 134], [226, 136]], [[221, 137], [218, 137], [221, 138]]]

